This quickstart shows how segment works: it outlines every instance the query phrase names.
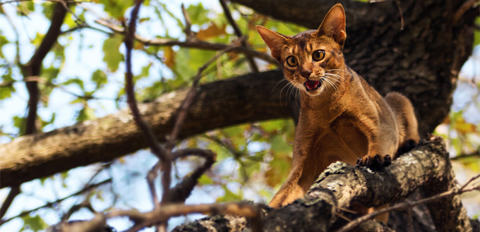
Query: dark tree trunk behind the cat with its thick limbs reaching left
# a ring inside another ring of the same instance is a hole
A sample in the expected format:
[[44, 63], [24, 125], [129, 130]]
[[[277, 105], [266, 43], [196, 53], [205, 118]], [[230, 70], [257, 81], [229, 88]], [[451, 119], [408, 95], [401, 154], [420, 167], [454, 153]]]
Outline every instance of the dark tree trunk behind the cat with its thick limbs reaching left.
[[[330, 0], [326, 4], [313, 0], [284, 4], [275, 4], [274, 0], [235, 1], [310, 28], [317, 28], [333, 5]], [[464, 12], [453, 24], [461, 2], [402, 1], [405, 25], [400, 30], [400, 13], [394, 1], [342, 3], [347, 8], [347, 63], [381, 94], [398, 91], [412, 99], [421, 135], [433, 131], [448, 114], [460, 67], [472, 51], [478, 7]], [[224, 126], [291, 116], [285, 103], [291, 101], [278, 95], [283, 84], [274, 90], [281, 78], [279, 71], [269, 71], [203, 85], [179, 139]], [[142, 106], [145, 120], [160, 141], [171, 130], [185, 93], [179, 90], [165, 94]], [[0, 188], [109, 161], [144, 147], [143, 135], [128, 111], [24, 136], [0, 145]]]

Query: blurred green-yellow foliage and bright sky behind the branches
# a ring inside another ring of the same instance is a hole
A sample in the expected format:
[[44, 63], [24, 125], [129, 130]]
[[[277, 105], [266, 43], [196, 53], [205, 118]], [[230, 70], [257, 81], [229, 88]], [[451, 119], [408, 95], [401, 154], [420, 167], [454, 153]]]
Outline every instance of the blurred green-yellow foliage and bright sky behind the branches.
[[[0, 142], [24, 135], [28, 92], [22, 70], [35, 47], [42, 42], [50, 24], [53, 4], [51, 1], [1, 4]], [[58, 43], [47, 54], [42, 75], [37, 77], [41, 91], [39, 126], [43, 132], [112, 114], [126, 107], [124, 37], [95, 23], [95, 20], [106, 19], [120, 26], [132, 4], [131, 0], [93, 0], [70, 6], [71, 12], [61, 27]], [[186, 39], [183, 31], [186, 21], [180, 4], [181, 1], [145, 1], [140, 11], [138, 35]], [[184, 1], [184, 4], [197, 39], [221, 44], [237, 39], [217, 1]], [[259, 15], [243, 6], [229, 5], [229, 8], [247, 43], [257, 51], [269, 52], [254, 29], [255, 25], [285, 35], [306, 30]], [[479, 31], [476, 30], [475, 45], [479, 43]], [[217, 52], [179, 46], [145, 46], [140, 42], [134, 44], [134, 49], [133, 73], [139, 102], [149, 102], [166, 92], [190, 86], [198, 68]], [[472, 59], [467, 62], [471, 63], [468, 65], [471, 69], [479, 66], [479, 56], [479, 47], [476, 46]], [[275, 68], [264, 61], [256, 61], [260, 71]], [[227, 53], [205, 71], [201, 83], [249, 72], [245, 56]], [[451, 112], [435, 132], [448, 142], [455, 171], [463, 181], [479, 173], [480, 169], [479, 89], [479, 72], [462, 71]], [[285, 87], [283, 91], [293, 90]], [[287, 99], [279, 98], [279, 101], [288, 104]], [[203, 147], [217, 153], [217, 163], [200, 178], [200, 184], [187, 203], [244, 199], [268, 202], [289, 173], [293, 140], [293, 121], [279, 119], [221, 128], [180, 142], [178, 147]], [[22, 193], [4, 217], [13, 219], [0, 228], [2, 231], [42, 231], [59, 221], [73, 205], [85, 200], [97, 211], [152, 209], [145, 176], [155, 161], [149, 151], [143, 150], [107, 164], [80, 167], [24, 183]], [[200, 162], [195, 158], [177, 161], [173, 170], [174, 182]], [[108, 183], [98, 188], [74, 194], [87, 185], [105, 180]], [[8, 189], [0, 190], [0, 198], [3, 200], [7, 193]], [[471, 202], [466, 204], [469, 215], [478, 216], [479, 197], [464, 195], [464, 200]], [[17, 216], [19, 214], [21, 216]], [[89, 219], [91, 216], [88, 210], [80, 209], [71, 219]], [[198, 217], [177, 218], [170, 226]], [[112, 219], [109, 224], [120, 231], [129, 222]]]

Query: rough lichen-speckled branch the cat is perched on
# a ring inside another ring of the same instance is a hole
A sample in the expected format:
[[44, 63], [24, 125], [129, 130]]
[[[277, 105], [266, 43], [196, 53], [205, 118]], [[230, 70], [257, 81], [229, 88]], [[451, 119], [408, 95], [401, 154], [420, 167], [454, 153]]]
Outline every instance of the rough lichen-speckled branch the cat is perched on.
[[[450, 175], [450, 161], [444, 146], [441, 140], [424, 142], [412, 152], [393, 161], [392, 165], [383, 171], [371, 171], [342, 162], [332, 164], [320, 175], [306, 197], [281, 209], [265, 208], [263, 229], [328, 231], [332, 229], [331, 226], [337, 219], [335, 214], [344, 214], [340, 209], [349, 207], [352, 202], [375, 207], [404, 200], [421, 186], [426, 186], [434, 180], [445, 179], [445, 173]], [[443, 208], [437, 209], [438, 214], [442, 216], [433, 215], [433, 223], [438, 231], [472, 231], [467, 215], [457, 214], [465, 212], [461, 202], [445, 198], [443, 203]], [[449, 219], [455, 223], [440, 221], [445, 216], [456, 217]], [[457, 220], [462, 222], [458, 223]], [[208, 231], [203, 225], [220, 228], [222, 224], [229, 224], [229, 228], [235, 228], [232, 221], [214, 216], [178, 226], [174, 231]]]

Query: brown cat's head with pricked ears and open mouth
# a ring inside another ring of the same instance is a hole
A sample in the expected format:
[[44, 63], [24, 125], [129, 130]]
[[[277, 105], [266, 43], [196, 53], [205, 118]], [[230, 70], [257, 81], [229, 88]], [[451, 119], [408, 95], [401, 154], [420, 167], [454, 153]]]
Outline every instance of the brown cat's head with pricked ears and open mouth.
[[337, 88], [344, 68], [343, 44], [345, 12], [336, 4], [323, 19], [318, 30], [288, 36], [262, 26], [257, 31], [268, 45], [273, 58], [283, 66], [285, 78], [292, 85], [315, 96], [326, 88]]

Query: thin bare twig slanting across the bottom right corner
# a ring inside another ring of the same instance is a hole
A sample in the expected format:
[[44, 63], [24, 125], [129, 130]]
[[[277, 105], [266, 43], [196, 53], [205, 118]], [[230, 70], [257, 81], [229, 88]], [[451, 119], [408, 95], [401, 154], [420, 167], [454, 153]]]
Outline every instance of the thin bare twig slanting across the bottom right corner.
[[428, 198], [425, 198], [425, 199], [422, 199], [422, 200], [418, 200], [416, 202], [402, 202], [402, 203], [399, 203], [399, 204], [395, 204], [391, 207], [386, 207], [384, 209], [380, 209], [378, 211], [372, 212], [371, 214], [366, 214], [366, 215], [361, 216], [361, 217], [359, 217], [359, 218], [357, 218], [353, 221], [350, 221], [347, 225], [343, 226], [342, 228], [338, 229], [335, 232], [350, 231], [353, 228], [355, 228], [356, 226], [358, 226], [359, 224], [361, 224], [362, 222], [367, 221], [369, 219], [373, 219], [375, 216], [378, 216], [380, 214], [385, 214], [385, 213], [391, 212], [391, 211], [409, 209], [409, 208], [415, 207], [419, 204], [426, 204], [426, 203], [434, 202], [434, 201], [439, 200], [439, 199], [444, 198], [444, 197], [450, 197], [452, 195], [459, 195], [459, 194], [474, 191], [474, 190], [480, 190], [480, 185], [474, 185], [472, 187], [467, 188], [467, 185], [469, 185], [470, 183], [472, 183], [472, 181], [474, 181], [478, 178], [480, 178], [480, 175], [475, 176], [474, 178], [471, 178], [467, 183], [462, 185], [461, 188], [452, 188], [451, 190], [448, 190], [444, 193], [440, 193], [440, 194], [434, 195], [432, 197], [428, 197]]

